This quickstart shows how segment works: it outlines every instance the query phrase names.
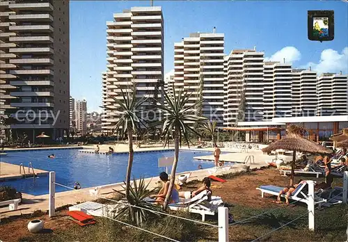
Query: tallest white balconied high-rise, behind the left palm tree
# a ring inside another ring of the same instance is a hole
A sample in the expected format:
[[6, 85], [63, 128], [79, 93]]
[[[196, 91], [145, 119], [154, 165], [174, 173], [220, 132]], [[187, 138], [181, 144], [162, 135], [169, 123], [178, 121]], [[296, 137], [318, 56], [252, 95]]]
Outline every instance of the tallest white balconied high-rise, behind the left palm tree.
[[[115, 13], [106, 22], [108, 64], [103, 79], [103, 105], [118, 108], [107, 95], [122, 99], [121, 91], [136, 86], [136, 97], [161, 99], [157, 87], [164, 80], [164, 21], [161, 7], [134, 7]], [[106, 83], [105, 83], [106, 82]], [[106, 85], [105, 85], [106, 84]], [[144, 102], [142, 110], [152, 108]], [[103, 131], [112, 131], [118, 121], [117, 113], [104, 112]], [[160, 113], [143, 112], [146, 120], [157, 120]]]

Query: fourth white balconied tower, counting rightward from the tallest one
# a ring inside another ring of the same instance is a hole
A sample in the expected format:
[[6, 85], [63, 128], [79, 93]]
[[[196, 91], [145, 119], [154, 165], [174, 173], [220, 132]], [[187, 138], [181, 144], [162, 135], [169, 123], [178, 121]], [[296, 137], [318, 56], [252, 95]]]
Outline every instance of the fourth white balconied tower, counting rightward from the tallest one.
[[263, 120], [292, 115], [292, 65], [264, 63]]

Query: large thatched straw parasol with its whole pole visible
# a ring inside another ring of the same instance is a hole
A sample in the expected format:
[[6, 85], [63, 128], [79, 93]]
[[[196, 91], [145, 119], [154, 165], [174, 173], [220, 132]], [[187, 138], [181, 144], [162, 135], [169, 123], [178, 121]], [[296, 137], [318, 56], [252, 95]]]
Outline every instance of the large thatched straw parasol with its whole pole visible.
[[273, 150], [293, 150], [292, 154], [292, 166], [290, 176], [290, 186], [294, 183], [294, 170], [296, 161], [296, 152], [308, 152], [308, 153], [319, 153], [319, 154], [331, 154], [333, 151], [318, 145], [317, 143], [308, 140], [303, 137], [306, 134], [306, 129], [298, 127], [296, 125], [289, 125], [287, 127], [287, 137], [278, 140], [276, 143], [262, 149], [262, 152], [271, 152]]

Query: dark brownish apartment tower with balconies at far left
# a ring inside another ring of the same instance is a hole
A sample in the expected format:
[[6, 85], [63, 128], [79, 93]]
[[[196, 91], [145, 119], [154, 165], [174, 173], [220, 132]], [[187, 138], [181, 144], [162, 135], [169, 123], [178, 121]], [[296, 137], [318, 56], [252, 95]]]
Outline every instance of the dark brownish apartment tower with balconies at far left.
[[13, 134], [69, 129], [69, 1], [0, 2], [0, 108]]

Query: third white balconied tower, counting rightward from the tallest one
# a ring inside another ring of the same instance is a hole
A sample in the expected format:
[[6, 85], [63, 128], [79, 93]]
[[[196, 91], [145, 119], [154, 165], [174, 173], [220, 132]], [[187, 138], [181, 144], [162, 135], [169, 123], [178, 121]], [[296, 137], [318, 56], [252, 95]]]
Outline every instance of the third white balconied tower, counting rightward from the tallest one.
[[225, 126], [235, 125], [237, 113], [243, 106], [242, 120], [262, 120], [263, 61], [264, 52], [255, 48], [235, 49], [225, 57]]

